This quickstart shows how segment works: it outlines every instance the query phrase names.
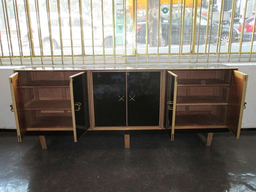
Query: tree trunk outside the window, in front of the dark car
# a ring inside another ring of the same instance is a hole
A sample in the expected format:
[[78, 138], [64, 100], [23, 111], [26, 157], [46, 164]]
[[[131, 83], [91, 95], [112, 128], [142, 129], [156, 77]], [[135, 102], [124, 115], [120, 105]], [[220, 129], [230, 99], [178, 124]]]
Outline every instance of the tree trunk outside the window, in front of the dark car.
[[[160, 0], [149, 0], [149, 10], [151, 10], [148, 17], [148, 44], [150, 47], [158, 46], [158, 8]], [[161, 10], [160, 10], [161, 11]], [[159, 47], [163, 47], [165, 42], [162, 37], [162, 24], [159, 19]]]

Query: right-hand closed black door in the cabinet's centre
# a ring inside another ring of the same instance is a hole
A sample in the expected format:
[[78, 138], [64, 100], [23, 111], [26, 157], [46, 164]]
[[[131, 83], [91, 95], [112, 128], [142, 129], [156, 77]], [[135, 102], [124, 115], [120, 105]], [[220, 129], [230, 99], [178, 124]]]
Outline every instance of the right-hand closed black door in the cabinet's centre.
[[159, 126], [160, 71], [127, 72], [128, 126]]

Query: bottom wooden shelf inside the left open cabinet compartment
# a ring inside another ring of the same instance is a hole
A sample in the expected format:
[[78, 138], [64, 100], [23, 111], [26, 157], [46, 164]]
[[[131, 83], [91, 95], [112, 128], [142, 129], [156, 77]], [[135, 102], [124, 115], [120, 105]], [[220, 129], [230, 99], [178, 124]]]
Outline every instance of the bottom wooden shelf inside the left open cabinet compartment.
[[72, 117], [38, 117], [29, 122], [27, 131], [72, 131]]

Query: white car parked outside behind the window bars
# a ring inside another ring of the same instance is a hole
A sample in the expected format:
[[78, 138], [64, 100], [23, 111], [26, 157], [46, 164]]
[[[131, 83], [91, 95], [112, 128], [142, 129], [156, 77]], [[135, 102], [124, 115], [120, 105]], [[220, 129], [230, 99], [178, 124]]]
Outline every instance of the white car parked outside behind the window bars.
[[[43, 24], [42, 24], [43, 23]], [[43, 43], [43, 49], [50, 49], [50, 35], [48, 22], [41, 23], [41, 38]], [[72, 42], [73, 47], [81, 46], [81, 27], [79, 16], [71, 17], [71, 30], [72, 30]], [[38, 38], [37, 26], [33, 28], [33, 39]], [[60, 42], [60, 28], [59, 28], [59, 18], [58, 16], [51, 18], [51, 36], [52, 36], [52, 47], [53, 49], [59, 48]], [[61, 31], [62, 31], [62, 43], [63, 47], [70, 47], [70, 25], [69, 17], [61, 17]], [[84, 33], [84, 46], [92, 46], [92, 27], [91, 20], [88, 18], [83, 18], [83, 33]], [[102, 46], [103, 41], [105, 48], [110, 48], [113, 46], [113, 30], [111, 27], [104, 26], [104, 39], [102, 36], [102, 25], [94, 23], [93, 26], [93, 39], [95, 46]], [[25, 36], [23, 42], [28, 42], [28, 35]], [[34, 45], [39, 46], [39, 41], [34, 40]]]

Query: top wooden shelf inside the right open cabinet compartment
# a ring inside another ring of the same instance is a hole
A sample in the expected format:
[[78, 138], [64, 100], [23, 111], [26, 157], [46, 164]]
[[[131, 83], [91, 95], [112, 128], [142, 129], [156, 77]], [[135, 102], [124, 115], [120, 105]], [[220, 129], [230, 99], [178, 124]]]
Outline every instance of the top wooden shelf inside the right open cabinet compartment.
[[221, 79], [178, 79], [178, 87], [187, 86], [230, 86]]

